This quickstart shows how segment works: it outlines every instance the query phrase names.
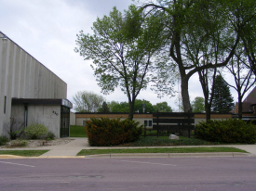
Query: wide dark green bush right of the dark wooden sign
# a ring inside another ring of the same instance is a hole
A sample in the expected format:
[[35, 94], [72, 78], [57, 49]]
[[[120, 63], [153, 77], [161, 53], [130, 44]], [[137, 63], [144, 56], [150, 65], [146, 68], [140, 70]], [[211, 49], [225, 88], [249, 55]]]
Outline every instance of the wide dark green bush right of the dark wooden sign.
[[199, 122], [195, 137], [220, 143], [256, 143], [256, 126], [242, 120]]

